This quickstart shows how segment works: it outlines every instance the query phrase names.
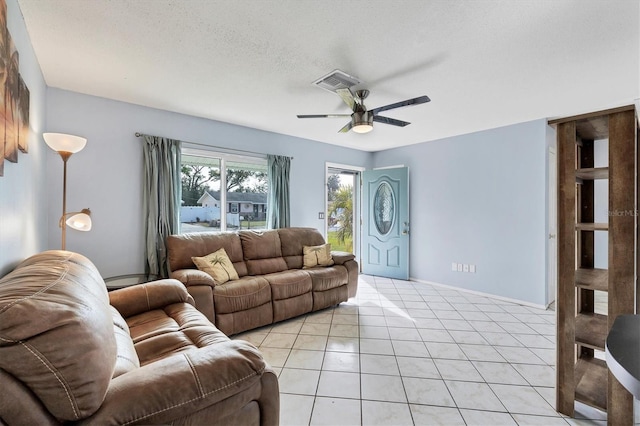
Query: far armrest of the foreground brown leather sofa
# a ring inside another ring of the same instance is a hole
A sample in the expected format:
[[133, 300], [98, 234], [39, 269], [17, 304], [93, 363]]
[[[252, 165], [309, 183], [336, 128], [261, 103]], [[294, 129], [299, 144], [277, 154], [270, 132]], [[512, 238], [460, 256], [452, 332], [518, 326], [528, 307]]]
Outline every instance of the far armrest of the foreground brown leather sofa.
[[109, 303], [128, 318], [173, 303], [193, 305], [194, 301], [180, 281], [164, 279], [110, 291]]

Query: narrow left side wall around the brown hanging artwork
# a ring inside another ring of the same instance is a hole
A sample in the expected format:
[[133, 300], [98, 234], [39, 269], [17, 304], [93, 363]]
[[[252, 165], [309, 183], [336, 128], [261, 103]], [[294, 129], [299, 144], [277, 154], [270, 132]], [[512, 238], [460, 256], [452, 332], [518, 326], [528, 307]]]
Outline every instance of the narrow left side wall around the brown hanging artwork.
[[5, 161], [4, 176], [0, 177], [0, 276], [25, 257], [47, 247], [44, 169], [46, 151], [50, 151], [41, 137], [46, 122], [46, 85], [17, 0], [7, 0], [7, 26], [20, 54], [20, 75], [31, 96], [29, 153], [18, 153], [17, 163]]

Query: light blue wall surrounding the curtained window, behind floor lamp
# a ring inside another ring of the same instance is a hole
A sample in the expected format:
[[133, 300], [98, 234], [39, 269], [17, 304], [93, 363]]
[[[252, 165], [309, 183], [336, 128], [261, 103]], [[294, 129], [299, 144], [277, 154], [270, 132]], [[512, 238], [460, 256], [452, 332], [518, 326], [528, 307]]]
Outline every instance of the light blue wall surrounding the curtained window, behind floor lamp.
[[[294, 157], [292, 226], [324, 229], [325, 162], [369, 167], [373, 155], [168, 111], [50, 88], [47, 131], [80, 135], [87, 146], [68, 163], [67, 210], [90, 207], [91, 232], [67, 232], [67, 249], [88, 256], [103, 276], [144, 270], [142, 142], [135, 132], [230, 149]], [[49, 245], [58, 248], [62, 162], [47, 163]]]

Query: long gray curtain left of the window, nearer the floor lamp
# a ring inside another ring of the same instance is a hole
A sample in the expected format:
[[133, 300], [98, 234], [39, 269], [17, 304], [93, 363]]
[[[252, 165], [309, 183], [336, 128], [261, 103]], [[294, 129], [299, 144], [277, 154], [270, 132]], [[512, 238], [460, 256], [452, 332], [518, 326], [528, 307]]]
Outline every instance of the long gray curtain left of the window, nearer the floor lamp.
[[180, 141], [143, 135], [144, 254], [147, 274], [167, 277], [165, 241], [180, 226]]

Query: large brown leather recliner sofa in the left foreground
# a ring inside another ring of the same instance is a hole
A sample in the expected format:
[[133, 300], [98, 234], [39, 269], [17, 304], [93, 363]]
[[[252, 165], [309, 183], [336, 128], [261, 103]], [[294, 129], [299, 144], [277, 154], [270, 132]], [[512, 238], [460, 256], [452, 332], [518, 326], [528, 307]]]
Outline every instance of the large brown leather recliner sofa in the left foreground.
[[251, 344], [229, 340], [161, 280], [107, 293], [67, 251], [0, 279], [0, 424], [262, 424], [278, 381]]

